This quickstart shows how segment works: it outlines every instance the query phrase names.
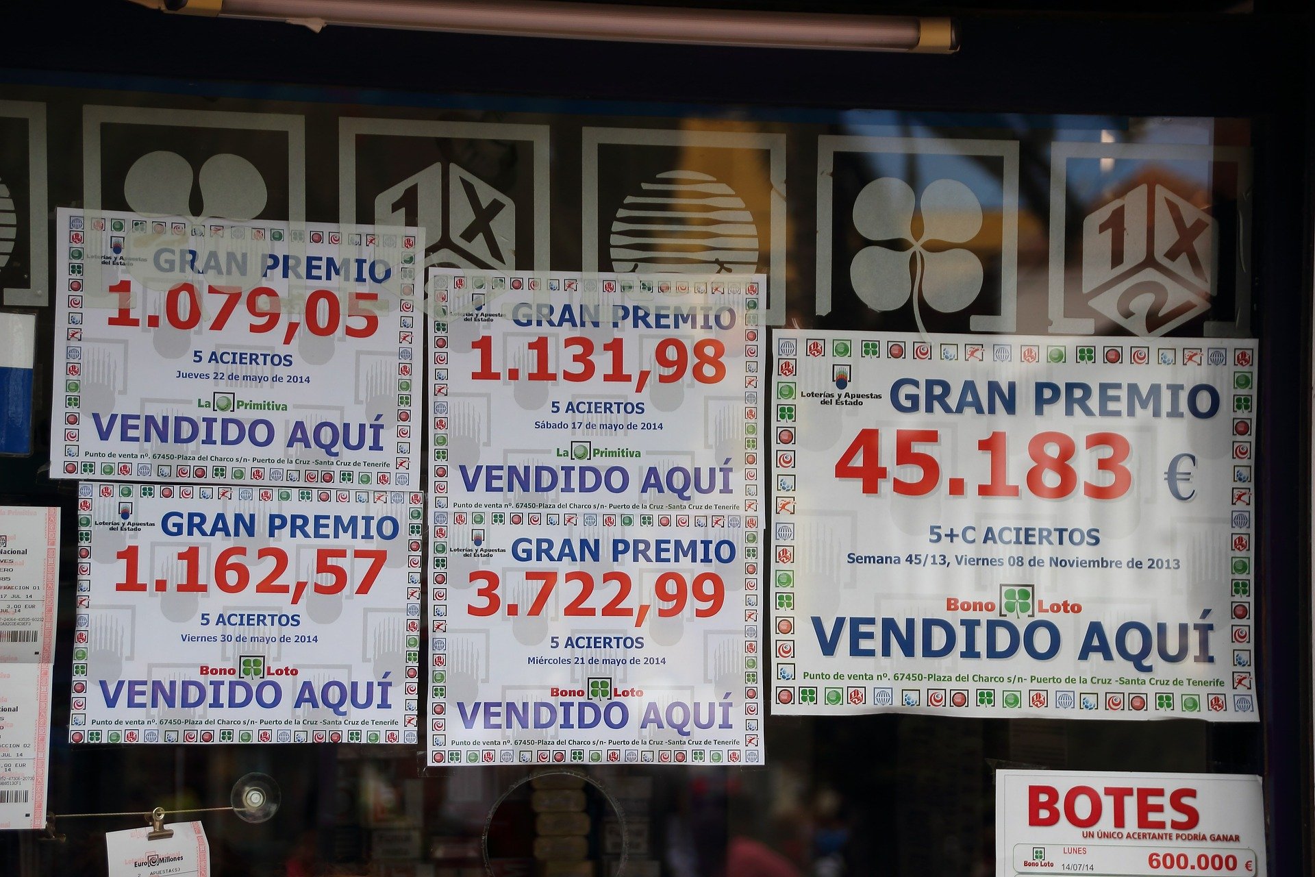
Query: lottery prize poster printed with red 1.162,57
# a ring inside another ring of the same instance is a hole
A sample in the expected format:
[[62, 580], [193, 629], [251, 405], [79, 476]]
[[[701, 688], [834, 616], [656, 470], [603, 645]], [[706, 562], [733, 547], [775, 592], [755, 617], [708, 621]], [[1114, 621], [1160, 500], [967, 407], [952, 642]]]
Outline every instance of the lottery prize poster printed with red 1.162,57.
[[416, 743], [423, 494], [78, 486], [72, 743]]

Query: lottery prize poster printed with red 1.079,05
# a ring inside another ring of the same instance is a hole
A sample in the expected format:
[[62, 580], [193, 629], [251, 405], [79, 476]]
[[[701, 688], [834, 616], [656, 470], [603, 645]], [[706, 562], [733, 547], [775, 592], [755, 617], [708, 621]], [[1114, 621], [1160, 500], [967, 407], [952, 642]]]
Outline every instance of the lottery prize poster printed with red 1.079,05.
[[57, 222], [53, 476], [419, 483], [416, 229]]

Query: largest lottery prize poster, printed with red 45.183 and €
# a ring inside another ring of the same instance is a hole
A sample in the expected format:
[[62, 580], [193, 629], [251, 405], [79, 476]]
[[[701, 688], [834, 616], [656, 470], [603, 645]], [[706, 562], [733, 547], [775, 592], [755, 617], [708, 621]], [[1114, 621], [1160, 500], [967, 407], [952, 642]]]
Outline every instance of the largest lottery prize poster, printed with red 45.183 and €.
[[773, 344], [775, 711], [1257, 721], [1255, 341]]

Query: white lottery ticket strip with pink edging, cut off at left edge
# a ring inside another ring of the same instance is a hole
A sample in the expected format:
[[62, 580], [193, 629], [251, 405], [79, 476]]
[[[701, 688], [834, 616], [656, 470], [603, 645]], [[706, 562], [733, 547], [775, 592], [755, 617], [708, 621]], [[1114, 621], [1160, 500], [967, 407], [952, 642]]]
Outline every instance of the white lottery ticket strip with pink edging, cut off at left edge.
[[46, 824], [59, 509], [0, 506], [0, 828]]

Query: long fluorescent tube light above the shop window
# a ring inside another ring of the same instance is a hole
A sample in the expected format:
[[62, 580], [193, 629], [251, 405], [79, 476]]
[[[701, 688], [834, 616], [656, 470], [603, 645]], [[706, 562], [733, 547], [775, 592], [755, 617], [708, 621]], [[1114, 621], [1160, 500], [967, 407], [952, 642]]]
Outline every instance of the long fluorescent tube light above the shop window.
[[306, 25], [400, 28], [554, 39], [764, 49], [918, 51], [959, 49], [949, 18], [634, 7], [552, 0], [132, 0], [193, 16]]

